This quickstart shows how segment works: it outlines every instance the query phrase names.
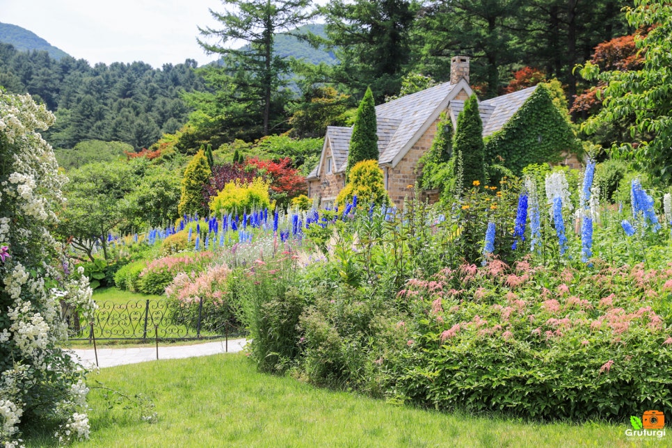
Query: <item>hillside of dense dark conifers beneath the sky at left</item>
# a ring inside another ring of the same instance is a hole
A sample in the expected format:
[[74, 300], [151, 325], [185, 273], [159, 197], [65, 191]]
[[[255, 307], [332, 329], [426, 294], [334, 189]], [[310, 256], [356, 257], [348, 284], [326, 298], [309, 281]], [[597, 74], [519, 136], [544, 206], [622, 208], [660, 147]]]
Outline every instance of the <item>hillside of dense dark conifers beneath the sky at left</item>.
[[18, 51], [0, 43], [0, 86], [30, 93], [56, 113], [45, 134], [54, 147], [72, 148], [96, 139], [122, 141], [136, 150], [184, 125], [190, 109], [185, 91], [204, 88], [196, 61], [154, 69], [142, 62], [98, 63], [47, 51]]

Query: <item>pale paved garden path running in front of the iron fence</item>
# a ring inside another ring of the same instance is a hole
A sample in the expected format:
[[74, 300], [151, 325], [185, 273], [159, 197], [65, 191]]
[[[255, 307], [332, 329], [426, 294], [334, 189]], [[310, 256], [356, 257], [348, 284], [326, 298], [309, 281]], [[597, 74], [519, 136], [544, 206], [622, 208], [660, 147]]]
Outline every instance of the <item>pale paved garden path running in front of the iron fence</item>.
[[[241, 351], [246, 343], [246, 339], [230, 339], [228, 347], [224, 341], [173, 347], [159, 346], [158, 359], [166, 360], [216, 355], [217, 353], [236, 353]], [[93, 349], [72, 349], [70, 352], [73, 356], [77, 356], [83, 365], [95, 367], [96, 354]], [[157, 360], [156, 346], [131, 347], [127, 349], [98, 349], [97, 352], [99, 367], [113, 367]]]

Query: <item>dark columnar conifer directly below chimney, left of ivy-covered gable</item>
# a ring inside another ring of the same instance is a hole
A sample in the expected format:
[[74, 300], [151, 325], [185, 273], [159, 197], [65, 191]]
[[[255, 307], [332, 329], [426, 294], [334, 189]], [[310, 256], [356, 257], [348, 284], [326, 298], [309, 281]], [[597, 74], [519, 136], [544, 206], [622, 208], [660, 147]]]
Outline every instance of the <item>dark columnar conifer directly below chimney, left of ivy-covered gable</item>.
[[453, 149], [455, 153], [462, 153], [465, 187], [471, 186], [476, 181], [484, 182], [486, 149], [483, 144], [483, 122], [476, 95], [465, 101], [464, 110], [457, 117]]

